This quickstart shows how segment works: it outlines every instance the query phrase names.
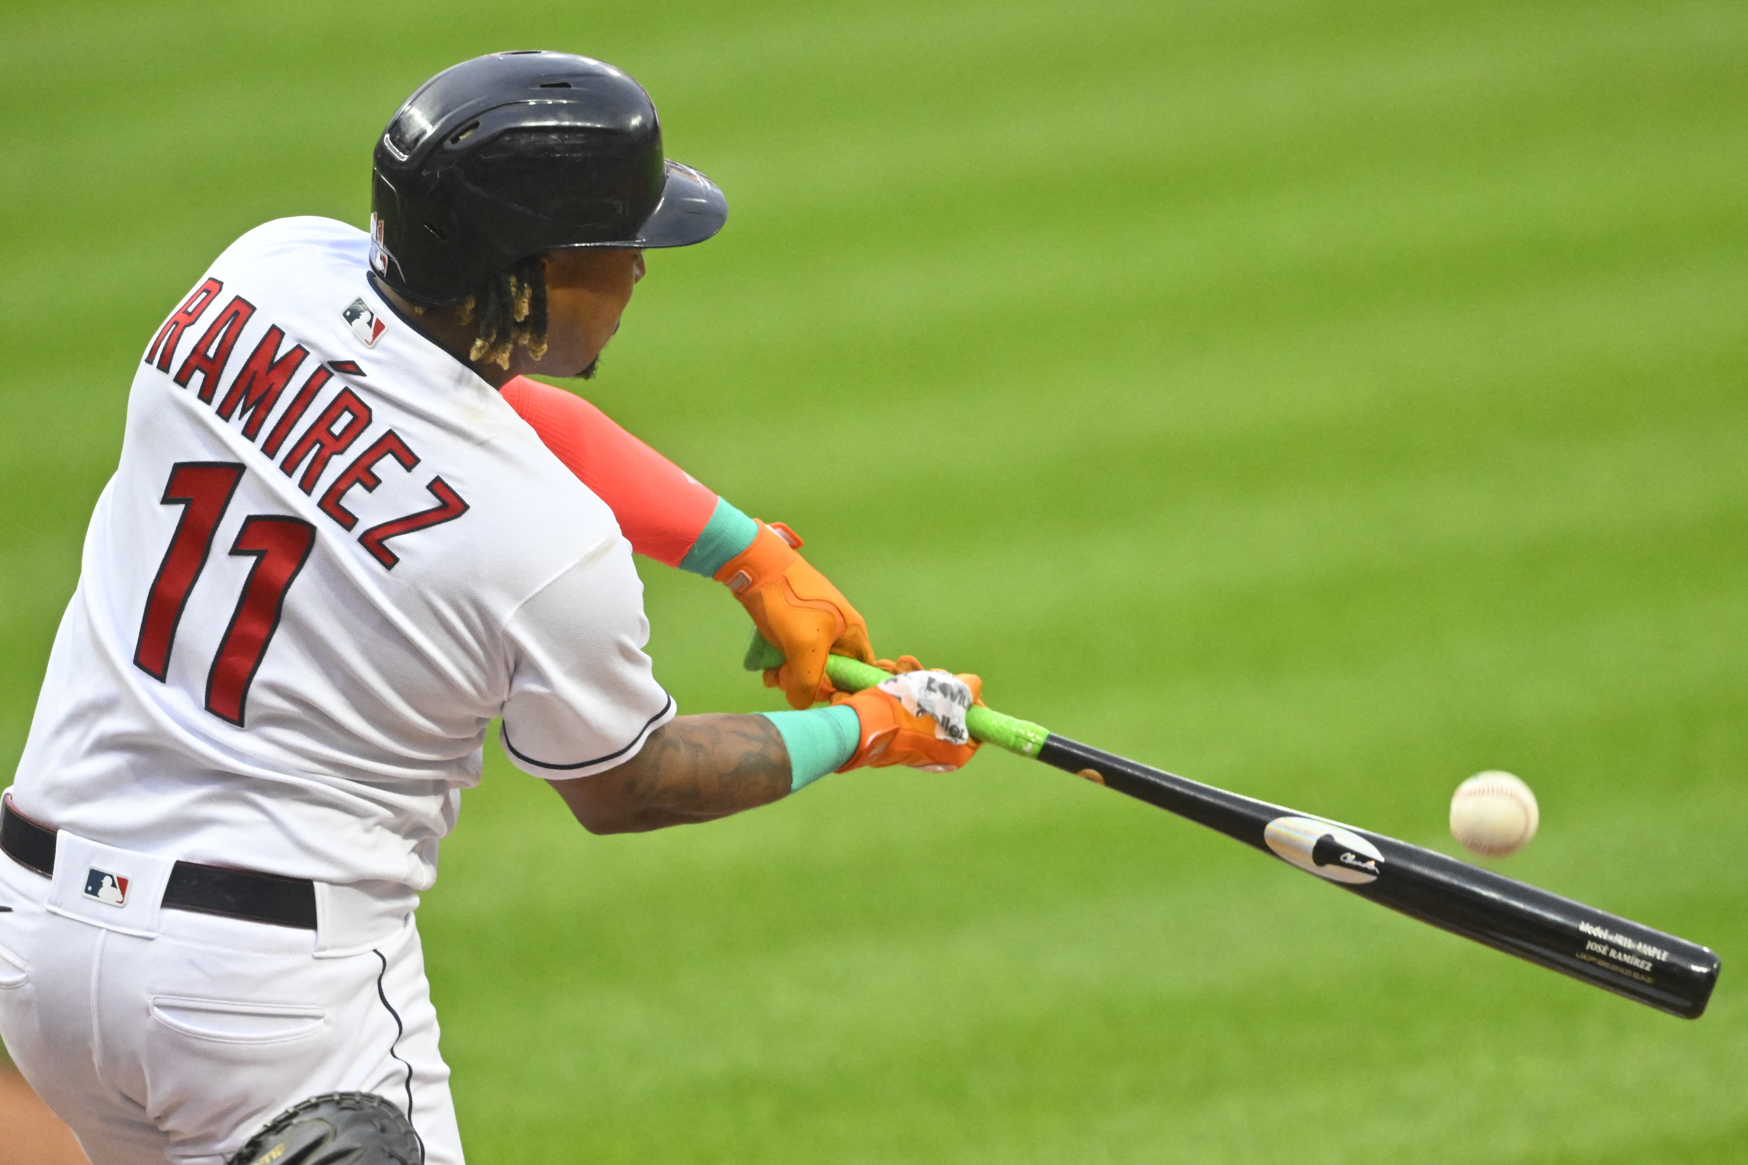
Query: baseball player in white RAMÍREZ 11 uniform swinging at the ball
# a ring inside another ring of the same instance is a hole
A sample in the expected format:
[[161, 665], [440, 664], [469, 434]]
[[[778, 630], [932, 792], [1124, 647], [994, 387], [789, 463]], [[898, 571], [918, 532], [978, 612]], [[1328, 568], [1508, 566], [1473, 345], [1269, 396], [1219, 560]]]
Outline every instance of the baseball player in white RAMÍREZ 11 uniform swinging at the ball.
[[[587, 376], [642, 252], [725, 218], [636, 82], [456, 65], [372, 210], [250, 231], [152, 335], [0, 809], [0, 1036], [93, 1165], [461, 1162], [414, 908], [495, 718], [593, 831], [975, 749], [975, 676], [832, 692], [872, 651], [799, 540], [519, 379]], [[806, 711], [676, 718], [633, 548], [727, 583]]]

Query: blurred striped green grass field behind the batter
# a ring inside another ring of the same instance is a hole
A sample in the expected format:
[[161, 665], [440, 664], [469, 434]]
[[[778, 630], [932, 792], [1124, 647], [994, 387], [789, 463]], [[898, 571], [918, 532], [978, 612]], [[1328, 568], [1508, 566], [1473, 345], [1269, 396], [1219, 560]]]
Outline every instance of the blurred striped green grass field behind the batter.
[[[631, 70], [729, 192], [589, 395], [884, 653], [1706, 941], [1685, 1024], [1017, 758], [589, 838], [496, 755], [421, 912], [470, 1158], [1748, 1160], [1748, 7], [0, 10], [0, 763], [152, 328], [364, 224], [437, 68]], [[682, 711], [776, 707], [640, 561]]]

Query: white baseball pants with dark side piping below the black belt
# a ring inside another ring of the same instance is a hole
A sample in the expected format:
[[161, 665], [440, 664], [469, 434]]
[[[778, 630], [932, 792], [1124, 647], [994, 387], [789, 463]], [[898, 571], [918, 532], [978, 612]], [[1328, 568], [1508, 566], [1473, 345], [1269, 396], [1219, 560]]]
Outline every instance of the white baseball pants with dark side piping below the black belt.
[[313, 931], [184, 910], [115, 929], [103, 903], [51, 910], [77, 842], [54, 880], [0, 854], [0, 1037], [93, 1165], [222, 1165], [323, 1092], [386, 1097], [430, 1165], [461, 1165], [411, 915], [320, 957]]

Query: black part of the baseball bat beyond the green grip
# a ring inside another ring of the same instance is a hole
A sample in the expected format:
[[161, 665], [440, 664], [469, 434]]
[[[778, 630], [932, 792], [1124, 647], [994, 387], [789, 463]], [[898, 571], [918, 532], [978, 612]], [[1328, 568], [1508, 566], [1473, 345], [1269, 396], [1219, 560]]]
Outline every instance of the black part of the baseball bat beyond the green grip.
[[1446, 854], [1150, 769], [1051, 734], [1038, 760], [1271, 852], [1409, 917], [1594, 987], [1699, 1018], [1718, 957], [1685, 938]]

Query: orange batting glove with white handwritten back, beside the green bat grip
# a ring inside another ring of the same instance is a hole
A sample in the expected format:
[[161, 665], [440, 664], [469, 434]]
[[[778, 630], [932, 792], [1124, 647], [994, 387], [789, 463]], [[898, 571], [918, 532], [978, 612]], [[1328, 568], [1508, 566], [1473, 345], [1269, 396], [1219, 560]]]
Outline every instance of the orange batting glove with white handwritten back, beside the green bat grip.
[[982, 704], [982, 679], [923, 671], [911, 655], [898, 662], [876, 660], [897, 672], [879, 686], [855, 695], [832, 692], [832, 704], [848, 704], [862, 721], [862, 739], [843, 769], [909, 765], [928, 772], [953, 772], [977, 753], [979, 742], [965, 728], [965, 713]]

